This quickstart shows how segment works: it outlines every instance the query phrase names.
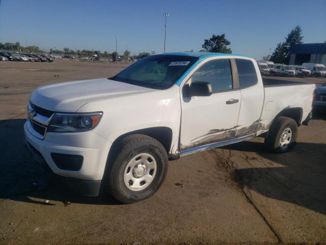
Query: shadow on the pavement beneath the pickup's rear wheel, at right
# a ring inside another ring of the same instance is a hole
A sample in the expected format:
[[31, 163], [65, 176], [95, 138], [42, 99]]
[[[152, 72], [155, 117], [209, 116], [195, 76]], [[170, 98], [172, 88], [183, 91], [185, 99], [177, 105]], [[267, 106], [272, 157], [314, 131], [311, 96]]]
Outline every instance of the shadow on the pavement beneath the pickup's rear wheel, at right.
[[326, 214], [326, 144], [298, 142], [283, 154], [269, 153], [253, 141], [223, 149], [241, 152], [233, 179], [243, 188]]

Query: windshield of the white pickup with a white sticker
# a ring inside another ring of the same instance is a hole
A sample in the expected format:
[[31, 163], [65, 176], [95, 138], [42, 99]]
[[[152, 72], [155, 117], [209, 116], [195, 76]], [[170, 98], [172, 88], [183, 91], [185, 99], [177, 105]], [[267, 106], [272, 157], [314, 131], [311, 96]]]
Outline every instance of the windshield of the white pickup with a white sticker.
[[197, 60], [197, 57], [191, 56], [148, 56], [110, 79], [137, 86], [167, 89]]

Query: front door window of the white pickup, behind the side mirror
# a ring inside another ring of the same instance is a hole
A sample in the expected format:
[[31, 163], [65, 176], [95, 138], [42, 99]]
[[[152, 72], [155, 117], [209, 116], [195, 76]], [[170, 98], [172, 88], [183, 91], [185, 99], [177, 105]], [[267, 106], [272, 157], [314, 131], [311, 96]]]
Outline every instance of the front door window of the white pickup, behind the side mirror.
[[192, 82], [209, 82], [212, 92], [233, 89], [230, 60], [212, 60], [194, 72]]

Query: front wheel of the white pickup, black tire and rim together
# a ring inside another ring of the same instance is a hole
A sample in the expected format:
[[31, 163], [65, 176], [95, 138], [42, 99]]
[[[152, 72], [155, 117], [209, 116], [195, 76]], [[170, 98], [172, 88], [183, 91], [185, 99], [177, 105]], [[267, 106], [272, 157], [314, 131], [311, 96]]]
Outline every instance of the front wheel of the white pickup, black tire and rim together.
[[126, 204], [150, 197], [167, 175], [164, 146], [152, 137], [134, 134], [122, 139], [120, 149], [107, 173], [108, 191]]

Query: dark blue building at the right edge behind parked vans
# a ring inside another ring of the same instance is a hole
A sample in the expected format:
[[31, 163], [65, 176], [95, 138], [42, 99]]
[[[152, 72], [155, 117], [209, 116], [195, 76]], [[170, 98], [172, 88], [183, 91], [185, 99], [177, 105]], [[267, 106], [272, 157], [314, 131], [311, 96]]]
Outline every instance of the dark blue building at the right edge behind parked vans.
[[302, 63], [326, 65], [326, 42], [291, 45], [289, 65], [302, 65]]

